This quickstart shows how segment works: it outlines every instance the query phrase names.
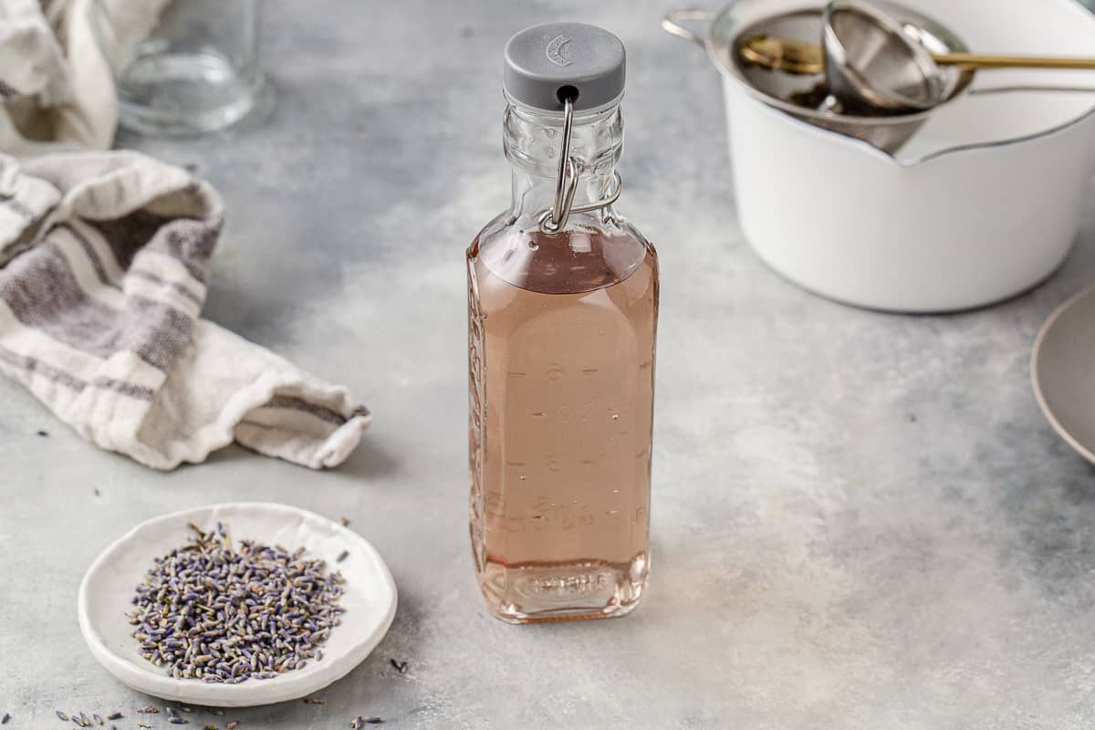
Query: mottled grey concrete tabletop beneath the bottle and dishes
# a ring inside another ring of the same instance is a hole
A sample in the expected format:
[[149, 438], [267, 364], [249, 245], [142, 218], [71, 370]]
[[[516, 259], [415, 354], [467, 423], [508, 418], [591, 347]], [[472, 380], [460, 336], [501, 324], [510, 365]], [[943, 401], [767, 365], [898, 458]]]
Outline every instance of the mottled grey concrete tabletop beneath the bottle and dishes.
[[[799, 291], [741, 237], [718, 80], [658, 30], [668, 9], [270, 2], [266, 124], [119, 138], [195, 164], [227, 199], [208, 316], [349, 384], [376, 425], [330, 473], [233, 448], [158, 474], [0, 382], [4, 730], [148, 702], [84, 649], [80, 578], [132, 524], [229, 499], [346, 515], [401, 590], [391, 633], [324, 705], [218, 719], [241, 730], [359, 714], [426, 729], [1095, 725], [1095, 472], [1028, 384], [1039, 324], [1095, 278], [1095, 220], [1056, 277], [983, 311], [894, 316]], [[620, 207], [664, 276], [654, 572], [622, 621], [514, 627], [486, 615], [468, 546], [463, 250], [508, 197], [502, 46], [552, 19], [629, 48]]]

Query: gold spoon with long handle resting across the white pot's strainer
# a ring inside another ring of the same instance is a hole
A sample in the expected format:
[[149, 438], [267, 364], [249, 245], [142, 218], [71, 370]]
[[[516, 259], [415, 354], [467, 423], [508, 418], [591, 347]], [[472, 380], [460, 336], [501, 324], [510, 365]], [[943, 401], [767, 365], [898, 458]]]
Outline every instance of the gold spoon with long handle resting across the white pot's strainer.
[[[741, 58], [750, 63], [787, 73], [825, 72], [825, 54], [819, 44], [791, 38], [757, 35], [738, 49]], [[998, 56], [994, 54], [932, 54], [941, 66], [964, 66], [973, 69], [1091, 69], [1095, 58], [1068, 58], [1054, 56]]]

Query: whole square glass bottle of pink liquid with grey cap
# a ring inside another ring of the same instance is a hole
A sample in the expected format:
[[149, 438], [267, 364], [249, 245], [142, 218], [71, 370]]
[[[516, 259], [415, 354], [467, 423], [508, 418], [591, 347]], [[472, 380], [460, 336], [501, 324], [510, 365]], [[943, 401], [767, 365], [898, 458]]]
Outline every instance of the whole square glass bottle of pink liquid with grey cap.
[[506, 47], [512, 205], [468, 250], [469, 440], [480, 587], [512, 623], [622, 616], [649, 569], [658, 262], [612, 205], [623, 63], [576, 23]]

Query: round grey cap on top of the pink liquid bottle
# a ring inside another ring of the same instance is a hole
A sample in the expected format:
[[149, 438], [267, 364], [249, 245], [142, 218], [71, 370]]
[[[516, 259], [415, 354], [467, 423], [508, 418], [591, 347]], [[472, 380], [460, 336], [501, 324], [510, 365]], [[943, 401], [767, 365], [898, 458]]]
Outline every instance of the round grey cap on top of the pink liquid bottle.
[[558, 91], [578, 90], [576, 112], [623, 95], [625, 53], [620, 38], [585, 23], [544, 23], [525, 28], [506, 44], [503, 86], [510, 101], [538, 109], [563, 108]]

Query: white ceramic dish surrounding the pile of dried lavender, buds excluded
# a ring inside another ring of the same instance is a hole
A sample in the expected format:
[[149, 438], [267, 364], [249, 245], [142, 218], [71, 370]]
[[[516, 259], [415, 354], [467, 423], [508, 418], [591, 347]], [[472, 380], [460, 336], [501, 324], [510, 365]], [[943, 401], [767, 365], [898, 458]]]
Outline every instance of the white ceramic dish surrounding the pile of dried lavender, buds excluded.
[[[175, 680], [138, 653], [126, 613], [152, 559], [185, 543], [187, 522], [223, 522], [233, 537], [307, 548], [346, 578], [341, 603], [346, 609], [323, 645], [322, 661], [270, 680], [207, 684]], [[349, 556], [335, 559], [343, 552]], [[357, 667], [380, 642], [395, 616], [395, 582], [377, 551], [356, 532], [287, 505], [237, 502], [211, 505], [158, 517], [115, 541], [84, 575], [78, 599], [80, 630], [95, 658], [123, 683], [155, 697], [212, 707], [250, 707], [297, 699], [322, 690]]]

